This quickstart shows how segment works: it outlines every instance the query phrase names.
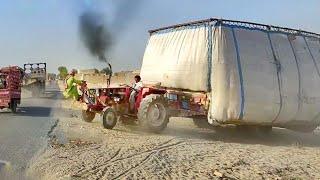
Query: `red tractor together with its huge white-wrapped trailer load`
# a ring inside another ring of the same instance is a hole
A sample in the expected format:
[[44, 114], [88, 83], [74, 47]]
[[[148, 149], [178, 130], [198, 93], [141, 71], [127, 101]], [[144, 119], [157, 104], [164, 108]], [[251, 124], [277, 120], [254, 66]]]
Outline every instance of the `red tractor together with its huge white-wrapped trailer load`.
[[[165, 129], [169, 117], [266, 131], [319, 126], [319, 34], [215, 18], [149, 32], [134, 119], [152, 131]], [[102, 91], [106, 107], [95, 101]], [[95, 90], [84, 115], [100, 113], [114, 126], [116, 117], [128, 114], [130, 91]]]

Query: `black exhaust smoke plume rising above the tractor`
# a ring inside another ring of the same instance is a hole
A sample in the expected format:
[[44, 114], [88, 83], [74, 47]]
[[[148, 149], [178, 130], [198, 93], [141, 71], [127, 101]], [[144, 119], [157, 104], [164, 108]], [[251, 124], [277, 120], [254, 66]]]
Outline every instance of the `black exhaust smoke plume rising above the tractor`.
[[[88, 0], [90, 1], [90, 0]], [[143, 0], [113, 0], [114, 19], [108, 26], [102, 13], [87, 9], [79, 16], [80, 37], [86, 48], [98, 60], [106, 62], [106, 53], [115, 40], [127, 30], [129, 21], [136, 14]]]

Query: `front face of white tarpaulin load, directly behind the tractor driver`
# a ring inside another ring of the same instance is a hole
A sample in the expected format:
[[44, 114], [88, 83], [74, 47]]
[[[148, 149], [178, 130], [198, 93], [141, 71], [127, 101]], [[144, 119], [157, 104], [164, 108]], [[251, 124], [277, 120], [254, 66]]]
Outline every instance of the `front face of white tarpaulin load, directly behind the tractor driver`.
[[208, 90], [208, 28], [191, 26], [155, 33], [148, 42], [141, 77], [144, 83]]

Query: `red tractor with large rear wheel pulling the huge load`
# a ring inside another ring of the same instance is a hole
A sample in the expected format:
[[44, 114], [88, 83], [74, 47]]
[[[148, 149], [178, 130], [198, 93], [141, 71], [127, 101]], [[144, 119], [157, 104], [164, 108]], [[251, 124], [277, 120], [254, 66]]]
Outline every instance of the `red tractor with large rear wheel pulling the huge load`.
[[129, 97], [133, 89], [127, 85], [87, 89], [84, 84], [80, 89], [82, 100], [87, 104], [87, 109], [82, 111], [82, 119], [91, 122], [96, 114], [100, 114], [107, 129], [112, 129], [121, 119], [123, 122], [138, 121], [148, 130], [159, 133], [167, 127], [171, 116], [205, 117], [207, 113], [202, 108], [203, 102], [207, 101], [205, 94], [194, 97], [194, 94], [180, 90], [145, 86], [136, 96], [134, 112], [130, 113]]

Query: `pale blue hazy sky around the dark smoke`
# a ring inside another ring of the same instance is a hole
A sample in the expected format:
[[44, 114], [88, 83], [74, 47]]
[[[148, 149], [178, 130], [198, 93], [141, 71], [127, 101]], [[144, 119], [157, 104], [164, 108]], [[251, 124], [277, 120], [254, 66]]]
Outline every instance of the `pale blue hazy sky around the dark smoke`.
[[[102, 69], [104, 64], [95, 61], [80, 41], [78, 17], [90, 6], [103, 12], [112, 24], [117, 2], [1, 0], [0, 66], [45, 61], [50, 72], [56, 72], [60, 65], [69, 69]], [[141, 0], [116, 34], [115, 45], [108, 57], [115, 71], [139, 69], [148, 30], [210, 17], [320, 33], [319, 7], [319, 0]]]

